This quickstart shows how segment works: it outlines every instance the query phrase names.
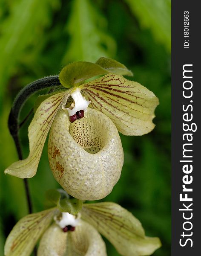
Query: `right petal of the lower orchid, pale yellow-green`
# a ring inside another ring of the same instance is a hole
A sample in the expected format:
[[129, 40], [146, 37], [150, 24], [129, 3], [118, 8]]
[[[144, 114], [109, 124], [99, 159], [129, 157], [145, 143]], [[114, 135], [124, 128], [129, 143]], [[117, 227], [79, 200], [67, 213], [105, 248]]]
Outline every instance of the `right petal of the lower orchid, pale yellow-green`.
[[146, 237], [140, 221], [118, 204], [84, 204], [81, 214], [123, 256], [151, 255], [161, 246], [158, 238]]

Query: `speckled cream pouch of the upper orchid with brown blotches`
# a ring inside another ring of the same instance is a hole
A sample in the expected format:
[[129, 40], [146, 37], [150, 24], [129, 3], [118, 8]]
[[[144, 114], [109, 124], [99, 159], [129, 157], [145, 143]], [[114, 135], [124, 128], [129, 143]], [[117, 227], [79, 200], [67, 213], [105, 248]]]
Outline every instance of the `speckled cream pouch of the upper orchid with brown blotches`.
[[69, 195], [80, 200], [108, 195], [123, 166], [117, 128], [92, 108], [73, 123], [66, 110], [58, 112], [49, 134], [48, 157], [55, 179]]

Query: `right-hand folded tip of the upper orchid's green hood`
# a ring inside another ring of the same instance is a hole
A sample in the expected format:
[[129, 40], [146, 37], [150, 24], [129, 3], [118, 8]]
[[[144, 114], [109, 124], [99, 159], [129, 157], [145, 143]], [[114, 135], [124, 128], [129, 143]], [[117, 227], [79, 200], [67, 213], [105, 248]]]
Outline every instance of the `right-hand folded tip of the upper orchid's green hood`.
[[96, 64], [106, 69], [108, 73], [122, 76], [133, 76], [131, 70], [128, 70], [126, 66], [111, 58], [101, 57], [96, 61]]

